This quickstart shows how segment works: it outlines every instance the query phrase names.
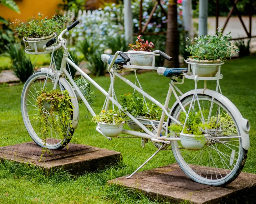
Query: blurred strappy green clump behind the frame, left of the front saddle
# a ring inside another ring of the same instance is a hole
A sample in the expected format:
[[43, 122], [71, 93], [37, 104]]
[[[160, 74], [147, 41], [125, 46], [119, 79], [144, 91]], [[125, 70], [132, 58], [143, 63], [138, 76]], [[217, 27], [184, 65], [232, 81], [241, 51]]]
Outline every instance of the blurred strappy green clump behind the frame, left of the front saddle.
[[90, 37], [85, 37], [77, 45], [80, 52], [84, 54], [87, 63], [87, 69], [96, 76], [104, 75], [107, 64], [101, 60], [101, 54], [104, 50], [99, 46], [97, 41], [93, 41]]

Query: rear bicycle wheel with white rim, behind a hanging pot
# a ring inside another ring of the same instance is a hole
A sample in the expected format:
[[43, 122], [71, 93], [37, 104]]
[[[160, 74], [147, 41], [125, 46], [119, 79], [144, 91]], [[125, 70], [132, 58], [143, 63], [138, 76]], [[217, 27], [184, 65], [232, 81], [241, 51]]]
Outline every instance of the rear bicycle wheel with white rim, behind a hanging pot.
[[[206, 143], [200, 150], [188, 150], [180, 140], [172, 141], [173, 155], [183, 172], [192, 180], [213, 186], [229, 184], [242, 171], [246, 161], [247, 150], [242, 147], [240, 134], [243, 130], [239, 129], [232, 111], [221, 101], [201, 94], [198, 94], [197, 101], [189, 95], [181, 101], [186, 112], [191, 102], [195, 110], [201, 108], [204, 113], [202, 120], [214, 124], [214, 127], [207, 129]], [[181, 112], [183, 110], [177, 104], [172, 116], [179, 120]], [[171, 124], [175, 122], [169, 118], [168, 126]], [[171, 133], [170, 137], [180, 136]]]

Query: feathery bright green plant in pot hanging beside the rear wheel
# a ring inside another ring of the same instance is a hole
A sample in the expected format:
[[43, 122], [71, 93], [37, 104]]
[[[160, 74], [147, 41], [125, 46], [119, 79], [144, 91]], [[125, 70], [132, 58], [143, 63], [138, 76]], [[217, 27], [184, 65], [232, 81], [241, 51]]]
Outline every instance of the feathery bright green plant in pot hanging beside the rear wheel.
[[210, 126], [202, 122], [201, 114], [205, 115], [206, 112], [202, 113], [201, 111], [197, 111], [195, 109], [191, 110], [190, 113], [188, 114], [188, 118], [187, 118], [185, 127], [183, 129], [187, 115], [185, 112], [181, 112], [180, 119], [179, 119], [181, 125], [171, 124], [169, 129], [175, 133], [181, 133], [183, 129], [183, 133], [185, 134], [196, 135], [196, 136], [203, 135], [205, 134], [204, 130], [206, 128], [210, 129]]

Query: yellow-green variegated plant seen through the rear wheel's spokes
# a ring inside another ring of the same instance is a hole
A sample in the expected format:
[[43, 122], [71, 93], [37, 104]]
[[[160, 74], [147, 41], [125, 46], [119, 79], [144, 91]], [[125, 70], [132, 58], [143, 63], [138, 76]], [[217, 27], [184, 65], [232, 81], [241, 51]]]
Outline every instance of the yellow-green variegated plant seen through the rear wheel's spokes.
[[218, 131], [225, 136], [237, 133], [236, 125], [232, 117], [227, 113], [224, 113], [224, 117], [218, 115], [218, 119], [215, 116], [211, 117], [208, 124], [211, 129], [218, 129]]

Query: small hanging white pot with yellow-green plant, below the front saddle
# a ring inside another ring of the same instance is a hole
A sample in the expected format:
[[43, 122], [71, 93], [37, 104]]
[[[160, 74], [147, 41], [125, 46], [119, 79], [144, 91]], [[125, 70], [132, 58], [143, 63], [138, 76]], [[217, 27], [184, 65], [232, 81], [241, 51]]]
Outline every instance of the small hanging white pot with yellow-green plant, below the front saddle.
[[117, 137], [121, 134], [125, 120], [115, 110], [102, 110], [99, 115], [92, 118], [93, 122], [99, 123], [101, 132], [107, 137]]

